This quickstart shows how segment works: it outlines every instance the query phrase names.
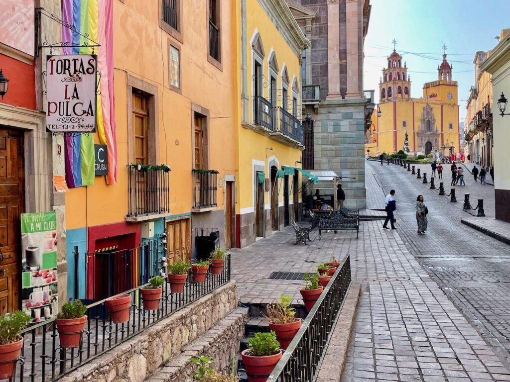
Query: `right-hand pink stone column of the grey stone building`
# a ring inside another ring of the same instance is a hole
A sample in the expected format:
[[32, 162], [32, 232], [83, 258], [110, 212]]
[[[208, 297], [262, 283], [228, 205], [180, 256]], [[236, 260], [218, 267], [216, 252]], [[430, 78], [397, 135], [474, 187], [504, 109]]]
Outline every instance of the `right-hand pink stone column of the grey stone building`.
[[[347, 27], [347, 94], [345, 98], [360, 98], [359, 80], [359, 54], [358, 49], [358, 1], [346, 0], [346, 27]], [[393, 91], [394, 89], [392, 89]], [[393, 93], [393, 92], [392, 92]]]

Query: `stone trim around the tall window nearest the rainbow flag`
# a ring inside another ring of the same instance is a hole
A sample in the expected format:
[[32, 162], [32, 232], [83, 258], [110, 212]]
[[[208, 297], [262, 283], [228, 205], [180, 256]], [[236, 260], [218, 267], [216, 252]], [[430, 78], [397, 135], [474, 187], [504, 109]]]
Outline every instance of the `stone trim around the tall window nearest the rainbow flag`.
[[159, 96], [158, 87], [146, 83], [144, 80], [127, 75], [127, 162], [134, 163], [134, 126], [133, 126], [133, 92], [141, 92], [149, 99], [149, 125], [147, 128], [148, 163], [158, 165], [159, 156]]

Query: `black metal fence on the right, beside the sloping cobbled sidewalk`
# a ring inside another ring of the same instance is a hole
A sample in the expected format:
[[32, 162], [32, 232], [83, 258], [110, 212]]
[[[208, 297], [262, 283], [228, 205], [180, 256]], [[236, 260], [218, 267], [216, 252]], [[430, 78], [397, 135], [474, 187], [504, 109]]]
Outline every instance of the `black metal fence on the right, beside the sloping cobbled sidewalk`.
[[316, 380], [350, 282], [350, 257], [347, 255], [269, 375], [268, 382]]

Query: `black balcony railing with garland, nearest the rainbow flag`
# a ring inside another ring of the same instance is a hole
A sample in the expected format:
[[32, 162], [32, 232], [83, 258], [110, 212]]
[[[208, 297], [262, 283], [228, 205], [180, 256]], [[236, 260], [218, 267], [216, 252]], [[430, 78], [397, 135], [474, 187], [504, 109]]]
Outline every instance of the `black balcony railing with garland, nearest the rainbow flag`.
[[129, 165], [128, 217], [170, 212], [170, 168]]

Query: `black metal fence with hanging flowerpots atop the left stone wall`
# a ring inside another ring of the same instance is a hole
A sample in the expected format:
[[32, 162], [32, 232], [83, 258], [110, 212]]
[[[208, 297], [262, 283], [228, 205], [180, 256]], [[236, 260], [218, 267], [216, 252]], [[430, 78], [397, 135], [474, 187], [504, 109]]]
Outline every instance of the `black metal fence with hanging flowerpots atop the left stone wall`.
[[190, 272], [183, 293], [171, 293], [165, 282], [157, 310], [144, 310], [139, 291], [143, 286], [124, 291], [131, 295], [132, 305], [129, 321], [122, 324], [112, 322], [104, 299], [90, 304], [87, 306], [88, 320], [82, 343], [75, 348], [60, 347], [54, 319], [31, 326], [21, 333], [24, 347], [11, 380], [54, 381], [225, 285], [230, 279], [231, 261], [230, 255], [227, 255], [222, 273], [208, 274], [203, 283], [193, 283]]

